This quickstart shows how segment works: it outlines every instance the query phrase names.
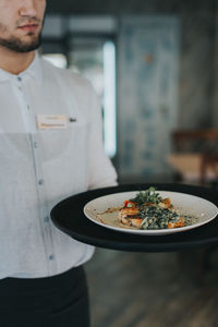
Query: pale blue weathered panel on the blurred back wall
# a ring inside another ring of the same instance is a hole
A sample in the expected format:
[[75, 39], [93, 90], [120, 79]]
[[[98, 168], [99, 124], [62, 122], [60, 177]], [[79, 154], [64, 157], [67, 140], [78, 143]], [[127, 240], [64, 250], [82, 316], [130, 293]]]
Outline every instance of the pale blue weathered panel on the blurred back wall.
[[180, 22], [131, 15], [119, 37], [119, 174], [150, 180], [169, 175], [171, 132], [178, 124]]

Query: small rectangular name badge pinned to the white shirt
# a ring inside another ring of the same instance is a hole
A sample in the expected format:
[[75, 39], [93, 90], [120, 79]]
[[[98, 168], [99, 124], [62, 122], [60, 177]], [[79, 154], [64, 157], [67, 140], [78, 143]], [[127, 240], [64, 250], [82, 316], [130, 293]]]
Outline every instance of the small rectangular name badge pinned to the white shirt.
[[66, 129], [68, 119], [65, 114], [38, 114], [37, 125], [39, 130]]

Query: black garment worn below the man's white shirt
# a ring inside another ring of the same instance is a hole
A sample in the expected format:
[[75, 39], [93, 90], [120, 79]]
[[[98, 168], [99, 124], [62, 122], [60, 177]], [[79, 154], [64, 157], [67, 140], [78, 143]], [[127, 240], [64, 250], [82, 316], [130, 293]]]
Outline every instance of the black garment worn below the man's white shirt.
[[89, 327], [83, 267], [46, 278], [0, 280], [1, 327]]

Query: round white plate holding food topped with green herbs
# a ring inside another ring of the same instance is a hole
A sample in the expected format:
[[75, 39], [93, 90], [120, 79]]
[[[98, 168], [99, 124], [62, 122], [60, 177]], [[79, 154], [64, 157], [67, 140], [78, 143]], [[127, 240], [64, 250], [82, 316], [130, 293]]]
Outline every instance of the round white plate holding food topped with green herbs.
[[218, 208], [198, 196], [149, 187], [95, 198], [85, 205], [84, 214], [95, 223], [117, 231], [169, 234], [209, 222]]

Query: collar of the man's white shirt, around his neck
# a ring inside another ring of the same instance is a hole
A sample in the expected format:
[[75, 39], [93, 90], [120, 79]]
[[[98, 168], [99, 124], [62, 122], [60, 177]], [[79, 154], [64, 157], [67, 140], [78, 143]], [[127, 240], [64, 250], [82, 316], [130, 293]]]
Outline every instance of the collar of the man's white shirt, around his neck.
[[41, 68], [41, 61], [40, 57], [37, 51], [35, 51], [35, 57], [29, 66], [21, 72], [19, 75], [11, 74], [2, 69], [0, 69], [0, 82], [14, 80], [17, 77], [21, 77], [22, 80], [28, 80], [29, 77], [34, 77], [37, 82], [41, 82], [43, 78], [43, 68]]

